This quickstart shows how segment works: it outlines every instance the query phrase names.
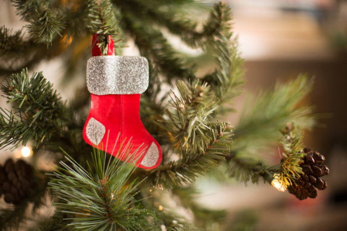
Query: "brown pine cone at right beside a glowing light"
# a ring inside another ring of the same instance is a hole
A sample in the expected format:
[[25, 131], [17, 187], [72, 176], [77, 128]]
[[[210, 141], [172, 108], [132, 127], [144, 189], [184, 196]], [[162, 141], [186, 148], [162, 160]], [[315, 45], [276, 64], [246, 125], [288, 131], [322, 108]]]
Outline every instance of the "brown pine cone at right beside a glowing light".
[[325, 157], [313, 151], [311, 148], [304, 148], [303, 163], [300, 164], [303, 174], [299, 179], [295, 180], [293, 185], [288, 187], [288, 191], [294, 194], [299, 200], [306, 199], [307, 197], [315, 198], [317, 196], [317, 189], [324, 190], [327, 183], [320, 177], [329, 173], [329, 168], [322, 165]]

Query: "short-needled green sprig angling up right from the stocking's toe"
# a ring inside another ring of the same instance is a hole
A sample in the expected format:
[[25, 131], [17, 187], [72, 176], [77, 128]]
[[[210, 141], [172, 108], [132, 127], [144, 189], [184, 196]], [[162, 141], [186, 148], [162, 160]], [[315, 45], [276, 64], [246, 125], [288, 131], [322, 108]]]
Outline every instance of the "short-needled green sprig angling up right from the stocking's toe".
[[220, 161], [225, 160], [232, 141], [231, 128], [225, 123], [210, 123], [207, 126], [209, 132], [204, 134], [204, 139], [208, 141], [202, 140], [199, 136], [196, 138], [205, 149], [197, 152], [193, 152], [189, 147], [179, 150], [179, 160], [160, 165], [152, 171], [150, 177], [153, 184], [173, 188], [191, 183], [198, 175], [204, 175], [211, 168], [218, 166]]

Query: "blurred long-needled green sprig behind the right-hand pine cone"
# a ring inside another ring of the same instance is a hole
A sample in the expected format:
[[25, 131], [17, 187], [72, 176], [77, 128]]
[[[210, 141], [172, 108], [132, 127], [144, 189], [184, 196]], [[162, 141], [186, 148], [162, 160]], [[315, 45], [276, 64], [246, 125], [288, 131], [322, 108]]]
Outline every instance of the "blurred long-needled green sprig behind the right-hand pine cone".
[[[287, 84], [277, 84], [273, 91], [260, 92], [256, 99], [249, 99], [233, 131], [234, 142], [231, 153], [227, 156], [231, 177], [243, 182], [251, 180], [253, 183], [262, 177], [270, 182], [273, 174], [279, 172], [276, 166], [269, 166], [264, 162], [261, 157], [264, 147], [276, 145], [281, 137], [278, 131], [289, 121], [303, 129], [312, 128], [312, 108], [299, 105], [311, 91], [312, 84], [312, 80], [299, 76]], [[298, 147], [296, 144], [295, 141], [294, 146]], [[284, 171], [296, 171], [293, 167], [286, 166], [289, 169]], [[286, 179], [288, 178], [285, 177], [284, 180]]]

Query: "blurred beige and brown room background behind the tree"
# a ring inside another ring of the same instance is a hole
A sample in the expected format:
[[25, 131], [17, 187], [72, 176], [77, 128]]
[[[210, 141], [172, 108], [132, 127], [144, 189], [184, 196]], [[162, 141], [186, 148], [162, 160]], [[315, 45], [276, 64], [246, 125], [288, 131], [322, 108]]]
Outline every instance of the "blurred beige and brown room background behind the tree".
[[[247, 92], [270, 88], [276, 81], [285, 82], [300, 73], [315, 78], [314, 90], [305, 103], [314, 104], [316, 113], [329, 116], [322, 116], [321, 126], [305, 134], [305, 143], [326, 156], [329, 186], [314, 200], [298, 201], [262, 183], [200, 182], [203, 194], [199, 200], [206, 206], [227, 209], [231, 230], [347, 230], [347, 1], [228, 2], [245, 59]], [[25, 24], [15, 15], [9, 0], [0, 1], [0, 24], [15, 30]], [[35, 70], [43, 70], [63, 97], [72, 97], [67, 89], [59, 89], [59, 65], [59, 60], [52, 60]], [[244, 97], [237, 98], [237, 109]], [[229, 120], [236, 124], [238, 114], [230, 115]], [[0, 159], [5, 159], [4, 155]]]

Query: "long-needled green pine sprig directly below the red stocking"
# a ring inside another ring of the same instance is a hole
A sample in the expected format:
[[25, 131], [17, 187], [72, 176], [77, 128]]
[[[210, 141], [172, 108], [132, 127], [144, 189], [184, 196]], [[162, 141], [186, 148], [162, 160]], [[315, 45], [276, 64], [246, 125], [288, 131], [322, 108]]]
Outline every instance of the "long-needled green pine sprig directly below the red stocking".
[[75, 215], [67, 218], [72, 220], [67, 226], [75, 230], [153, 230], [154, 214], [134, 199], [139, 183], [130, 177], [135, 167], [108, 158], [98, 149], [92, 155], [93, 168], [85, 169], [67, 156], [66, 163], [60, 161], [59, 170], [51, 174], [49, 185], [60, 199], [58, 211]]

